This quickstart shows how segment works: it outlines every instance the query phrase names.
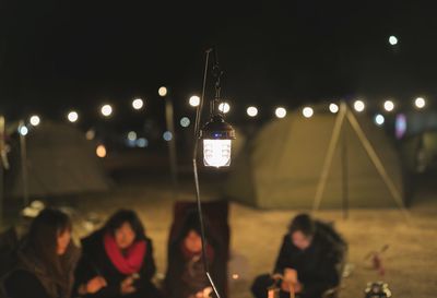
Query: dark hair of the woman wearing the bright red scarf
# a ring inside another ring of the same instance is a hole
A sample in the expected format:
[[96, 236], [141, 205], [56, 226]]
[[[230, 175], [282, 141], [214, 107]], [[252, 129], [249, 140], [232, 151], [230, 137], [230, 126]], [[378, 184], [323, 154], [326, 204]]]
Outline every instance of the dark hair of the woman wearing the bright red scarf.
[[105, 229], [110, 235], [115, 235], [116, 229], [128, 223], [135, 234], [135, 241], [144, 238], [145, 229], [137, 213], [132, 210], [119, 210], [106, 222]]

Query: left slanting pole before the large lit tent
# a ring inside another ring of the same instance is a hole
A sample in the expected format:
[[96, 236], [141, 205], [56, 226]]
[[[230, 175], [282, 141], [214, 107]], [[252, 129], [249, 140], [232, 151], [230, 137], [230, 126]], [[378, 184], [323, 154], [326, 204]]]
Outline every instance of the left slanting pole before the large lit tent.
[[315, 195], [315, 200], [312, 203], [312, 212], [318, 211], [320, 207], [321, 196], [323, 195], [323, 191], [327, 186], [328, 174], [331, 168], [332, 159], [334, 157], [336, 144], [339, 143], [340, 132], [341, 132], [341, 129], [343, 126], [345, 115], [346, 115], [346, 105], [344, 103], [341, 103], [339, 116], [335, 119], [335, 124], [332, 130], [332, 136], [331, 136], [331, 141], [329, 143], [327, 157], [324, 158], [323, 167], [321, 170], [321, 176], [320, 176], [319, 182], [317, 184], [316, 195]]

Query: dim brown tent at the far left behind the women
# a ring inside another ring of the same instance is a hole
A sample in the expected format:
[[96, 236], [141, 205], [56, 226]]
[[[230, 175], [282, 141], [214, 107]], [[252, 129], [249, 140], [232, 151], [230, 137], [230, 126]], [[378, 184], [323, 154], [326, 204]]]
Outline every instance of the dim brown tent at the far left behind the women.
[[[7, 174], [8, 196], [23, 195], [19, 138], [12, 140]], [[26, 136], [29, 198], [56, 196], [109, 189], [110, 181], [93, 144], [74, 126], [44, 121]]]

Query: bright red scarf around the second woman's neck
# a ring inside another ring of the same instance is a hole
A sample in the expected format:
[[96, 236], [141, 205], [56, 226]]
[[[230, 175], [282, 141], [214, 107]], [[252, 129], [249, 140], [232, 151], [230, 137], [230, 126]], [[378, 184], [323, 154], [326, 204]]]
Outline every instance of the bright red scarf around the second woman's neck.
[[121, 253], [116, 240], [109, 234], [105, 235], [104, 245], [106, 254], [119, 272], [128, 275], [140, 271], [146, 250], [144, 240], [133, 242], [126, 250], [126, 254]]

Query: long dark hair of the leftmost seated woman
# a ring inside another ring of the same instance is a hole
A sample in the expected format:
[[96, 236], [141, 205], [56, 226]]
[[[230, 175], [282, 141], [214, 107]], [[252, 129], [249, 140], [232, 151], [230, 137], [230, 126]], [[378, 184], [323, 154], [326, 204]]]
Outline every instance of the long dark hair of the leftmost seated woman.
[[58, 236], [71, 231], [70, 217], [56, 208], [45, 208], [31, 224], [28, 248], [55, 276], [62, 276], [61, 261], [57, 254]]

